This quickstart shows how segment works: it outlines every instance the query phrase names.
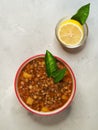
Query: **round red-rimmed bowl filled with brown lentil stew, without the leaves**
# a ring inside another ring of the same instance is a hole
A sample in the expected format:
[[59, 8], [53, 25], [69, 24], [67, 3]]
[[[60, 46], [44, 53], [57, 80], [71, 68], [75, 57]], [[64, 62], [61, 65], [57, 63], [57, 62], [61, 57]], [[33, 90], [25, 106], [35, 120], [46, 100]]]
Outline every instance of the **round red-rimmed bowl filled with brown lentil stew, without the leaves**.
[[47, 76], [45, 55], [30, 57], [19, 67], [14, 81], [15, 93], [28, 111], [42, 115], [54, 115], [67, 109], [71, 104], [75, 91], [76, 80], [71, 67], [61, 58], [54, 56], [59, 69], [66, 68], [64, 78], [54, 83]]

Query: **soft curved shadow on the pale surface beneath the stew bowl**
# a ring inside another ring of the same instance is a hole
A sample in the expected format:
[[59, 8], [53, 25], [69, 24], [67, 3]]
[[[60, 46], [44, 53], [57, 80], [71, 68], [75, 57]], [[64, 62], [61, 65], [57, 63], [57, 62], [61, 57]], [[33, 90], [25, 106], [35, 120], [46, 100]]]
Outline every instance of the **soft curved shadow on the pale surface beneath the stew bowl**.
[[34, 121], [38, 122], [39, 124], [55, 125], [62, 122], [63, 120], [66, 120], [68, 116], [70, 115], [70, 113], [71, 113], [71, 106], [67, 110], [57, 115], [38, 116], [38, 115], [32, 115], [32, 113], [28, 113], [28, 115], [30, 116], [30, 118], [32, 118]]

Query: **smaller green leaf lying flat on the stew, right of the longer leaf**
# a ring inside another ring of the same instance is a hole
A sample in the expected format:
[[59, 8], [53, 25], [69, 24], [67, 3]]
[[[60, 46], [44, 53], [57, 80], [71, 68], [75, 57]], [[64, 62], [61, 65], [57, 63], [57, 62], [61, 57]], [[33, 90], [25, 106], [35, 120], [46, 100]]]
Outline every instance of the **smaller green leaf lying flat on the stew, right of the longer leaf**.
[[54, 78], [54, 82], [57, 83], [59, 81], [61, 81], [65, 75], [66, 69], [61, 69], [61, 70], [57, 70], [55, 71], [52, 76]]

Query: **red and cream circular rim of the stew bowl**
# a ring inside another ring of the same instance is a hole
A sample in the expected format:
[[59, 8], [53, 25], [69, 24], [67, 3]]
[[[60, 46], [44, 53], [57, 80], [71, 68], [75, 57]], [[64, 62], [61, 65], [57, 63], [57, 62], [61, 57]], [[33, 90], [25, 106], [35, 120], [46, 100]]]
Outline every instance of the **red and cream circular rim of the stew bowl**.
[[18, 81], [18, 76], [21, 72], [21, 70], [24, 68], [24, 66], [26, 64], [28, 64], [30, 61], [36, 59], [36, 58], [39, 58], [39, 57], [44, 57], [45, 54], [38, 54], [38, 55], [35, 55], [35, 56], [31, 56], [29, 58], [27, 58], [18, 68], [18, 70], [16, 71], [16, 75], [15, 75], [15, 79], [14, 79], [14, 90], [15, 90], [15, 94], [16, 94], [16, 97], [18, 99], [18, 101], [20, 102], [20, 104], [26, 109], [28, 110], [29, 112], [33, 113], [33, 114], [37, 114], [37, 115], [41, 115], [41, 116], [50, 116], [50, 115], [55, 115], [55, 114], [58, 114], [60, 112], [62, 112], [63, 110], [66, 110], [66, 108], [71, 104], [74, 96], [75, 96], [75, 93], [76, 93], [76, 78], [75, 78], [75, 75], [71, 69], [71, 67], [69, 66], [69, 64], [64, 61], [62, 58], [58, 57], [58, 56], [55, 56], [54, 57], [61, 61], [66, 67], [67, 69], [70, 71], [71, 73], [71, 76], [72, 76], [72, 80], [73, 80], [73, 90], [72, 90], [72, 94], [70, 96], [70, 98], [68, 99], [68, 101], [60, 108], [54, 110], [54, 111], [50, 111], [50, 112], [40, 112], [40, 111], [36, 111], [32, 108], [30, 108], [29, 106], [27, 106], [23, 100], [21, 99], [20, 95], [19, 95], [19, 92], [18, 92], [18, 89], [17, 89], [17, 81]]

